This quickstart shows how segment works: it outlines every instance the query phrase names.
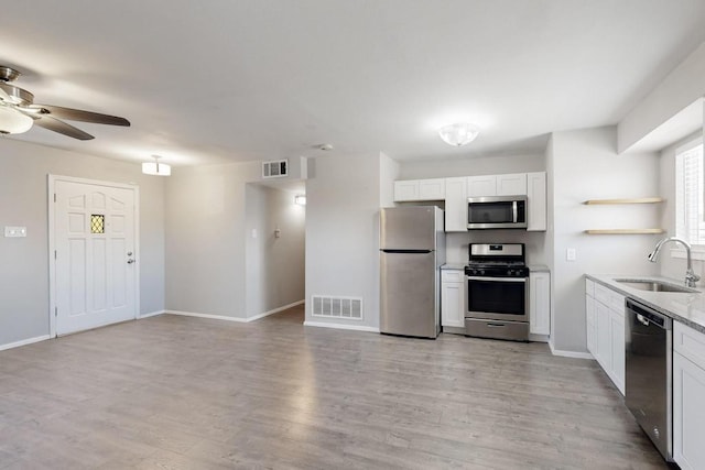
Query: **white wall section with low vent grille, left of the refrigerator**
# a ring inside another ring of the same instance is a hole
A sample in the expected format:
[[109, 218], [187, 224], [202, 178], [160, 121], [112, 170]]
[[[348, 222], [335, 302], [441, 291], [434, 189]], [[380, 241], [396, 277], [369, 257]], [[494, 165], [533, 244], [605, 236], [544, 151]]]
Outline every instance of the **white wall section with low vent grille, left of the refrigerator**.
[[[316, 159], [306, 182], [306, 321], [379, 328], [379, 154]], [[312, 316], [313, 295], [361, 297], [364, 320]]]

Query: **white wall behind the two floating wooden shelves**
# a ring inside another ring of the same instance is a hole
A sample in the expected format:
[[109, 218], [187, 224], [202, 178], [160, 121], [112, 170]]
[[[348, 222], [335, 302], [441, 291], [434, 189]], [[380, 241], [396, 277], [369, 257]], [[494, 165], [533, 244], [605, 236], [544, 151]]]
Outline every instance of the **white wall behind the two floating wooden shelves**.
[[[587, 199], [655, 196], [659, 155], [618, 155], [616, 128], [556, 132], [550, 141], [553, 179], [554, 249], [553, 346], [585, 352], [585, 273], [655, 274], [647, 255], [660, 236], [590, 236], [586, 229], [658, 227], [661, 212], [653, 205], [586, 206]], [[567, 248], [577, 250], [566, 261]]]

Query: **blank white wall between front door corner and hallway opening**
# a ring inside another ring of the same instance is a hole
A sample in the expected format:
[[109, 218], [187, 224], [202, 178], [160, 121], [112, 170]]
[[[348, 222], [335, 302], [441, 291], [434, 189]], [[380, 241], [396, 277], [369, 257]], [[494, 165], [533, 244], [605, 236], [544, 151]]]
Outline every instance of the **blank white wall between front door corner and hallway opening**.
[[261, 165], [173, 168], [166, 182], [166, 308], [245, 319], [246, 184]]

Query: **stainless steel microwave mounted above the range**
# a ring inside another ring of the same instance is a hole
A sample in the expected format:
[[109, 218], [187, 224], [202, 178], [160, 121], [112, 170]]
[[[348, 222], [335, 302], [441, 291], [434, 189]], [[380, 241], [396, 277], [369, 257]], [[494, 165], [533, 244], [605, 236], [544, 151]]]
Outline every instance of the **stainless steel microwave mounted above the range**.
[[482, 196], [467, 199], [467, 228], [525, 229], [527, 196]]

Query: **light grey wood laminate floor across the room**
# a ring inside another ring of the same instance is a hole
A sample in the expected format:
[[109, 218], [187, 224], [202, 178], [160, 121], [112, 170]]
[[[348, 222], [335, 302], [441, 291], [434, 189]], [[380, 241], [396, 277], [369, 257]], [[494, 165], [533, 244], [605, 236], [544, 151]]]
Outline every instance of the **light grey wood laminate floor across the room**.
[[0, 469], [660, 469], [543, 343], [162, 315], [0, 352]]

